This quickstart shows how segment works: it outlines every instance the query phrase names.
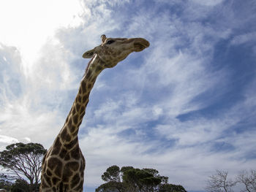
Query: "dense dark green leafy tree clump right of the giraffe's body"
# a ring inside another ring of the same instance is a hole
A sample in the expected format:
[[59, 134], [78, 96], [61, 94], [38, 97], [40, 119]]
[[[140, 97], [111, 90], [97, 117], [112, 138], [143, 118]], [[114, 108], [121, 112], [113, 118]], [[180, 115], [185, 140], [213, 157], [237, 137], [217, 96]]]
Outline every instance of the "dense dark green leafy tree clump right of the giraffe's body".
[[161, 176], [156, 169], [110, 166], [102, 174], [102, 180], [107, 183], [96, 192], [187, 192], [181, 185], [168, 184], [168, 177]]

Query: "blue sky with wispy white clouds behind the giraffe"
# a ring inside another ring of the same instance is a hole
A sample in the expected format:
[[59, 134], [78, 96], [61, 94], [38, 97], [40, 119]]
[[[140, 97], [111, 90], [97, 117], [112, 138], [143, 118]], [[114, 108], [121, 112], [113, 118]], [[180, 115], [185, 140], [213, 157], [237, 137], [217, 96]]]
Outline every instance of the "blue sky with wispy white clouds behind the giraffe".
[[[45, 148], [64, 125], [100, 36], [150, 47], [105, 69], [78, 134], [84, 191], [112, 165], [205, 191], [256, 165], [256, 1], [0, 1], [0, 150]], [[238, 187], [234, 191], [239, 191]]]

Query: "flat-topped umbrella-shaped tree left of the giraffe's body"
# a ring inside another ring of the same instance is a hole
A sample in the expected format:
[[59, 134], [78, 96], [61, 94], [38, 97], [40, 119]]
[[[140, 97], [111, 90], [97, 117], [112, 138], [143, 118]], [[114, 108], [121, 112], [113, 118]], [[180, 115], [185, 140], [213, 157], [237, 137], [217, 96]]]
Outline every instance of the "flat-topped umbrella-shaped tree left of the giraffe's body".
[[0, 152], [0, 165], [19, 180], [29, 180], [29, 191], [32, 191], [33, 186], [39, 184], [42, 158], [46, 152], [38, 143], [15, 143]]

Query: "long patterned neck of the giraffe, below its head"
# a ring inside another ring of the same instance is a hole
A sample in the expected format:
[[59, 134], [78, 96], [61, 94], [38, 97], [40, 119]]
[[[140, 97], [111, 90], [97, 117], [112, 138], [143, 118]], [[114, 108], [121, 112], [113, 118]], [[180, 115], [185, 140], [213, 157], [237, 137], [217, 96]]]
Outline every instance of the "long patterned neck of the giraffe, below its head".
[[78, 94], [75, 97], [75, 101], [72, 104], [66, 122], [54, 142], [56, 145], [61, 143], [66, 150], [72, 149], [75, 144], [78, 144], [78, 130], [83, 121], [83, 116], [86, 114], [86, 106], [89, 102], [91, 89], [93, 88], [98, 75], [103, 70], [103, 64], [99, 65], [99, 62], [102, 61], [99, 60], [97, 55], [94, 55], [94, 57], [91, 58], [91, 61], [89, 61], [86, 72], [80, 82]]

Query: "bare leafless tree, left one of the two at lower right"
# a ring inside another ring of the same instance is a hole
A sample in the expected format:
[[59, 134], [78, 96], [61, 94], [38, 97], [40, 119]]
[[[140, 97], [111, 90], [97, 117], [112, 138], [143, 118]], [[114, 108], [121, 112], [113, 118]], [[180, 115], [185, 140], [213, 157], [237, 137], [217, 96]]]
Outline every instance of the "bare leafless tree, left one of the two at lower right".
[[230, 192], [232, 187], [236, 185], [236, 182], [232, 180], [227, 180], [228, 172], [216, 170], [216, 174], [209, 177], [206, 186], [206, 191], [209, 192]]

